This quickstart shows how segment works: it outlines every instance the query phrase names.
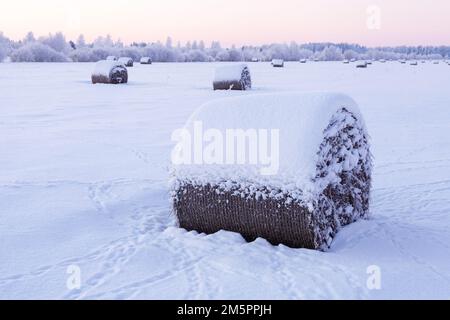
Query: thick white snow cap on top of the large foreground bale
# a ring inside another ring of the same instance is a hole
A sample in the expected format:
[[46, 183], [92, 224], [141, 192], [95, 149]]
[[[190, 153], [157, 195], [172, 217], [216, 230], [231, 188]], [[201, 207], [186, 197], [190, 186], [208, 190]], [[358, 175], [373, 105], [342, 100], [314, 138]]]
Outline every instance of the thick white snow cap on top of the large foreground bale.
[[[300, 189], [303, 193], [298, 196], [302, 199], [298, 200], [313, 198], [316, 193], [313, 179], [319, 163], [317, 153], [324, 140], [324, 130], [333, 115], [343, 108], [360, 119], [361, 127], [364, 127], [356, 103], [339, 93], [258, 94], [206, 103], [185, 126], [191, 137], [195, 135], [196, 123], [202, 124], [203, 131], [219, 130], [223, 137], [228, 129], [278, 130], [280, 159], [273, 159], [279, 162], [278, 169], [270, 175], [262, 175], [267, 164], [260, 161], [258, 164], [233, 165], [182, 164], [174, 166], [174, 175], [179, 180], [201, 186], [251, 183], [290, 194]], [[271, 144], [275, 142], [268, 139]]]

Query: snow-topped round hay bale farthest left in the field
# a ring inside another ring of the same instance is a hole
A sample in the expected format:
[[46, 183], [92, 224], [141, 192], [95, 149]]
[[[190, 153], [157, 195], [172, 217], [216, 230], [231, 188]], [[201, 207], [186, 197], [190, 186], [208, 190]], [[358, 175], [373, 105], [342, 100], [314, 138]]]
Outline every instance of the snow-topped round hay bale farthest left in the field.
[[92, 71], [92, 83], [119, 84], [128, 82], [127, 68], [114, 60], [103, 60], [95, 64]]

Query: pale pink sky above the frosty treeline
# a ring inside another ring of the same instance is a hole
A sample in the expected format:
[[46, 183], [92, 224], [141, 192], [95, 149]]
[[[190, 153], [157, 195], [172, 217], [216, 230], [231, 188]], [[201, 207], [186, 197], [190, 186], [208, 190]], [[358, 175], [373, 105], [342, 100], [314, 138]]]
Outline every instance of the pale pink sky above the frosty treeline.
[[449, 45], [449, 16], [448, 0], [14, 0], [1, 5], [0, 32], [14, 40], [61, 31], [125, 43]]

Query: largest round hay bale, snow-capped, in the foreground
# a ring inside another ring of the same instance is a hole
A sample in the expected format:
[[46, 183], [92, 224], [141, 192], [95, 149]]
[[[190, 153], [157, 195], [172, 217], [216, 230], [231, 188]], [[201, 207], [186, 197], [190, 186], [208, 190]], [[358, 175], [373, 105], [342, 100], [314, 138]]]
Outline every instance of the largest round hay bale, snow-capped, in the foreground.
[[[200, 127], [217, 139], [205, 141], [227, 146], [213, 158], [206, 157], [212, 154], [208, 143], [203, 155], [186, 152], [200, 150], [194, 142]], [[236, 138], [233, 129], [246, 134], [241, 149], [228, 145]], [[248, 241], [261, 237], [275, 245], [326, 250], [342, 226], [368, 215], [369, 136], [356, 103], [345, 95], [221, 99], [199, 108], [180, 136], [193, 138], [182, 139], [172, 153], [173, 209], [181, 228], [207, 234], [227, 230]], [[256, 154], [270, 154], [272, 160], [250, 161]], [[199, 161], [202, 156], [208, 160]], [[241, 161], [230, 161], [235, 156]]]

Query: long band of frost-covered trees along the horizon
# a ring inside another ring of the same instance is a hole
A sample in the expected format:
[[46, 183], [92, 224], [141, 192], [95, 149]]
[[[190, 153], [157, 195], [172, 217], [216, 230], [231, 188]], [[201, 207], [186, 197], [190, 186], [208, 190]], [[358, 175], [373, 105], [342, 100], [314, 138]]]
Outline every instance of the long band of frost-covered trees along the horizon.
[[[43, 46], [35, 45], [40, 43]], [[33, 45], [30, 45], [33, 44]], [[44, 49], [45, 48], [45, 49]], [[55, 56], [53, 51], [60, 53]], [[17, 51], [17, 52], [16, 52]], [[46, 58], [46, 55], [48, 57]], [[186, 62], [186, 61], [250, 61], [257, 58], [269, 61], [274, 58], [287, 61], [299, 59], [320, 59], [336, 61], [342, 59], [442, 59], [450, 56], [450, 46], [401, 46], [366, 48], [357, 44], [308, 43], [269, 44], [262, 46], [243, 46], [241, 48], [223, 48], [218, 41], [213, 41], [207, 48], [203, 41], [187, 42], [183, 47], [178, 43], [173, 46], [170, 37], [165, 43], [135, 42], [126, 45], [120, 40], [114, 41], [110, 35], [98, 37], [92, 43], [87, 43], [80, 35], [75, 43], [67, 42], [65, 36], [58, 32], [36, 40], [29, 32], [22, 41], [3, 41], [0, 44], [0, 58], [13, 55], [14, 61], [91, 61], [105, 59], [107, 56], [127, 56], [134, 60], [142, 56], [150, 56], [156, 62]]]

